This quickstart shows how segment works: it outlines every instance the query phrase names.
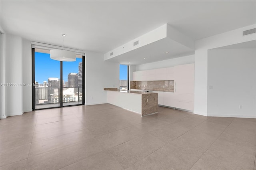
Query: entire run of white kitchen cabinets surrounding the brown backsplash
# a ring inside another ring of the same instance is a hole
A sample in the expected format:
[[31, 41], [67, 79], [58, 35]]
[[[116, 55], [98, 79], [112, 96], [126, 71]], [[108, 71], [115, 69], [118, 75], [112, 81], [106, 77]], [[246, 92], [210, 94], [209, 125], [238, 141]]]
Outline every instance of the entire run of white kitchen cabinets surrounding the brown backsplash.
[[134, 81], [174, 80], [174, 93], [154, 91], [158, 105], [194, 110], [194, 63], [133, 73]]

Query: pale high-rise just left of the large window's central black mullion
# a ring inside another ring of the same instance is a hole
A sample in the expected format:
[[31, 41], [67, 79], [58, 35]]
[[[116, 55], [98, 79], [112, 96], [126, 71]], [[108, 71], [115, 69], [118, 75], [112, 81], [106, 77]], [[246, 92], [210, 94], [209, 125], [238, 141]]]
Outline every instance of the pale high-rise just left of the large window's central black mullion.
[[[58, 88], [60, 88], [60, 79], [49, 77], [48, 79], [48, 103], [52, 103], [52, 98], [54, 97], [54, 93], [58, 93]], [[55, 88], [52, 88], [55, 87]]]

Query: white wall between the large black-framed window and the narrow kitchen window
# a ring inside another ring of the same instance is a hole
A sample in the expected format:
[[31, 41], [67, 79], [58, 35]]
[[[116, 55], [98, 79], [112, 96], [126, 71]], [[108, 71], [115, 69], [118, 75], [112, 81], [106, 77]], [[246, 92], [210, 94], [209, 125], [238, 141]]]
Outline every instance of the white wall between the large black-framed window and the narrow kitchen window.
[[104, 88], [119, 87], [119, 63], [104, 61], [104, 54], [86, 51], [86, 105], [107, 103]]

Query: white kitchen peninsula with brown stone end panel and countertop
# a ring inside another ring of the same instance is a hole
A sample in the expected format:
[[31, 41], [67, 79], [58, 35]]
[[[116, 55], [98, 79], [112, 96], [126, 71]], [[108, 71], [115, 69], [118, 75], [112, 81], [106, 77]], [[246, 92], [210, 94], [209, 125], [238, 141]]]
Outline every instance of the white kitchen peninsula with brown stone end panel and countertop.
[[141, 116], [158, 113], [158, 93], [143, 91], [107, 91], [107, 102]]

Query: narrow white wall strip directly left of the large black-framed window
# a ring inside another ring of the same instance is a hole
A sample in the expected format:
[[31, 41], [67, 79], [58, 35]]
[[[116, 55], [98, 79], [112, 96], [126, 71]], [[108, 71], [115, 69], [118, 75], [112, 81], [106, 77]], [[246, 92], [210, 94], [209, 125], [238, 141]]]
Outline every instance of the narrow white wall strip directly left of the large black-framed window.
[[[32, 52], [31, 42], [22, 40], [22, 83], [32, 83]], [[32, 111], [32, 87], [23, 86], [23, 112]]]

